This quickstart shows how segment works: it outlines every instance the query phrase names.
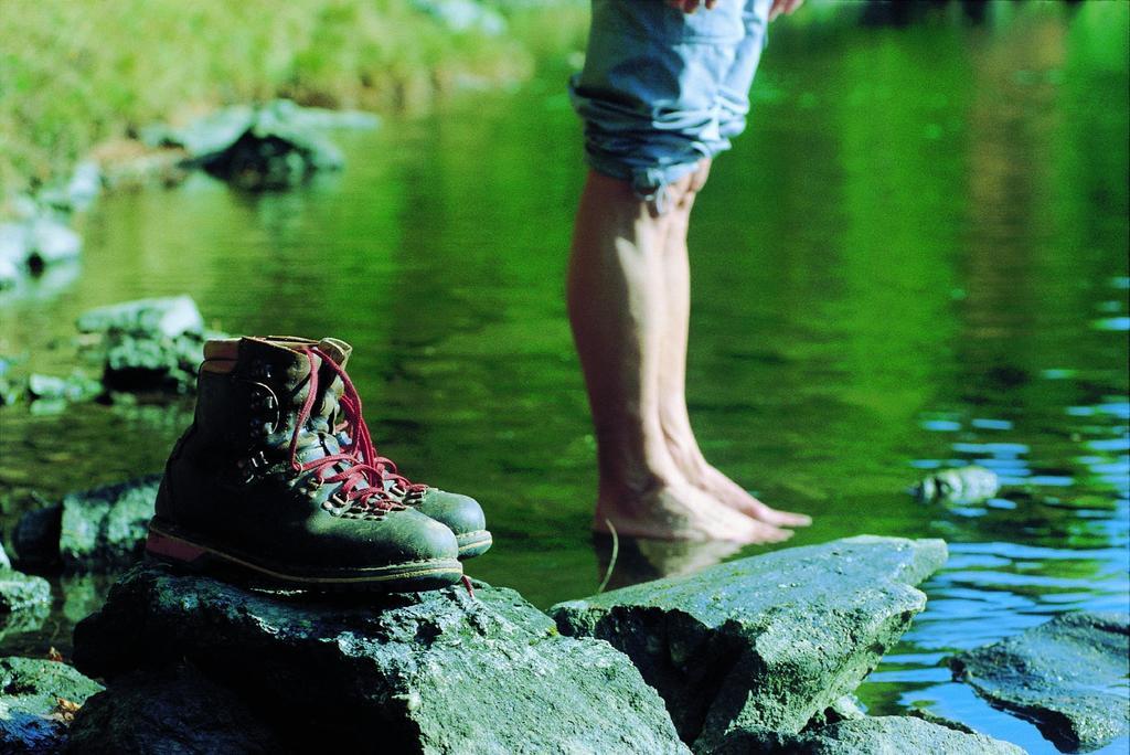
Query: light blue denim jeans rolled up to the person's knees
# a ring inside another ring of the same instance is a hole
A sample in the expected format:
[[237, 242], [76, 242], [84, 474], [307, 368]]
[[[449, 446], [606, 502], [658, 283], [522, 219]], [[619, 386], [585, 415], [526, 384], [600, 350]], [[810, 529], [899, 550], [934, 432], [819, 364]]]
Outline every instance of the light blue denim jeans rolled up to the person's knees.
[[663, 0], [592, 0], [583, 70], [570, 83], [598, 173], [641, 199], [730, 147], [749, 112], [770, 0], [719, 0], [695, 14]]

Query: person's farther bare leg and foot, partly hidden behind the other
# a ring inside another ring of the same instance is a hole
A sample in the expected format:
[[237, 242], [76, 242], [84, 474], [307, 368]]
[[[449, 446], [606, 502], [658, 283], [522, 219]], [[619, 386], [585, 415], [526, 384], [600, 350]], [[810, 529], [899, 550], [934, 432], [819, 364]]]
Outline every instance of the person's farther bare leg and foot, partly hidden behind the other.
[[667, 235], [663, 240], [667, 326], [663, 328], [660, 356], [660, 423], [671, 457], [693, 485], [747, 517], [764, 522], [766, 533], [775, 533], [781, 532], [779, 527], [805, 526], [811, 523], [811, 519], [771, 509], [711, 466], [698, 448], [687, 413], [687, 333], [690, 322], [687, 228], [695, 196], [706, 183], [709, 173], [710, 162], [703, 160], [688, 190], [668, 212]]

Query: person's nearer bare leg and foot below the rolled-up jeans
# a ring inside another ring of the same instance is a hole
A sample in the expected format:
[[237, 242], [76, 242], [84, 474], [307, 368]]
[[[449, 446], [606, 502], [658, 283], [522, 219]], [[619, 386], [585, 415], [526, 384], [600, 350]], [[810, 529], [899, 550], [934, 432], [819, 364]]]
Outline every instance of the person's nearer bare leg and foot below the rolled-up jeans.
[[[689, 186], [672, 186], [677, 198]], [[590, 172], [577, 210], [568, 312], [597, 434], [600, 485], [593, 526], [637, 537], [781, 539], [692, 485], [660, 420], [666, 327], [663, 240], [657, 216], [627, 182]], [[771, 528], [772, 529], [772, 528]]]

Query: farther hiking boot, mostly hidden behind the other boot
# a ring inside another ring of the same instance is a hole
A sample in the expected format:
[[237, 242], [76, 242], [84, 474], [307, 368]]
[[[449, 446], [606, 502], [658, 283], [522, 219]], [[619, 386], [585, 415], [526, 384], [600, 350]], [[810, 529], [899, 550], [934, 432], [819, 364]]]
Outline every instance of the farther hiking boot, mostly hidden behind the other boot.
[[336, 402], [345, 416], [345, 422], [334, 426], [341, 449], [356, 453], [365, 463], [376, 467], [390, 497], [445, 524], [454, 532], [460, 558], [486, 553], [493, 540], [479, 502], [467, 495], [414, 483], [400, 474], [391, 459], [379, 455], [362, 416], [360, 398], [345, 373], [353, 347], [334, 338], [325, 338], [321, 345], [325, 355], [334, 362], [332, 365], [322, 365], [323, 374], [320, 380], [328, 387], [327, 402]]

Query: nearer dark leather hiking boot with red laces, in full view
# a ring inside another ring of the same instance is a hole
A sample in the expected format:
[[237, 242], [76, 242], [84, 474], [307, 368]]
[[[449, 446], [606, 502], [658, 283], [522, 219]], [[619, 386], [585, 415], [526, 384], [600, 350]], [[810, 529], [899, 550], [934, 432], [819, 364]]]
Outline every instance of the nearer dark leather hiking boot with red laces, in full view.
[[451, 530], [338, 446], [323, 344], [333, 350], [288, 338], [205, 345], [195, 417], [165, 467], [148, 554], [297, 589], [416, 591], [459, 581]]

